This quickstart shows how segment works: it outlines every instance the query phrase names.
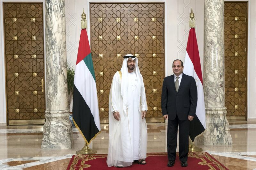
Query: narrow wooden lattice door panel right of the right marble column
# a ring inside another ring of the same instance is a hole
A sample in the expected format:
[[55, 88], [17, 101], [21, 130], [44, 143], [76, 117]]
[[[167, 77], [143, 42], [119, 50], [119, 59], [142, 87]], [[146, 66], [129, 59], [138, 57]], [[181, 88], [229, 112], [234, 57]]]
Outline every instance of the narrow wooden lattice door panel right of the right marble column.
[[225, 105], [227, 116], [246, 117], [247, 2], [225, 2]]

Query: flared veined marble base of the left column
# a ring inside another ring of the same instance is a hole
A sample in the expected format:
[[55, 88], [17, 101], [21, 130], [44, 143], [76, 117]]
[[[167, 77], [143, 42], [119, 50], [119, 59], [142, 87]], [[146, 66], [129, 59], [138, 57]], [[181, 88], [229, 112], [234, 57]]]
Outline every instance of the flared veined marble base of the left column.
[[45, 111], [42, 149], [71, 149], [73, 143], [69, 110]]

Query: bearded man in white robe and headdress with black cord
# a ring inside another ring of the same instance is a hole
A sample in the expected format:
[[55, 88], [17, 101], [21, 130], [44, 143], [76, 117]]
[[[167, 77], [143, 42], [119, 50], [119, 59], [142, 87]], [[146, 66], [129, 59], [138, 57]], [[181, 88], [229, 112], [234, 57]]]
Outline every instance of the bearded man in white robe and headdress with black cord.
[[113, 77], [109, 94], [108, 166], [146, 164], [148, 110], [138, 58], [124, 56], [121, 71]]

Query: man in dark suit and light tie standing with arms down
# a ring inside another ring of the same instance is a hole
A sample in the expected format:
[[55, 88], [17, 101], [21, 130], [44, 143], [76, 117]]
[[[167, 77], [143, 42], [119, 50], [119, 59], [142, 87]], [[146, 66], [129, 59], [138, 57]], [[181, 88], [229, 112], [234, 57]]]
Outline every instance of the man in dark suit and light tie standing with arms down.
[[174, 60], [173, 75], [164, 78], [162, 89], [162, 112], [168, 119], [167, 152], [168, 164], [173, 166], [176, 159], [177, 133], [179, 125], [179, 153], [181, 166], [188, 166], [189, 121], [196, 115], [197, 88], [193, 77], [183, 74], [183, 62]]

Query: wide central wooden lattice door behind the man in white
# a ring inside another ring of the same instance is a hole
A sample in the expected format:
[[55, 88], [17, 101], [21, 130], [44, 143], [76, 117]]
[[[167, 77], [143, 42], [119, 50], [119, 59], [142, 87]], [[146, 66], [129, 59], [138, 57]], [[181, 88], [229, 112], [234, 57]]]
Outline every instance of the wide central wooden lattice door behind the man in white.
[[91, 49], [98, 90], [100, 118], [108, 118], [112, 78], [120, 70], [123, 55], [139, 58], [148, 114], [162, 117], [164, 79], [164, 4], [91, 3]]

